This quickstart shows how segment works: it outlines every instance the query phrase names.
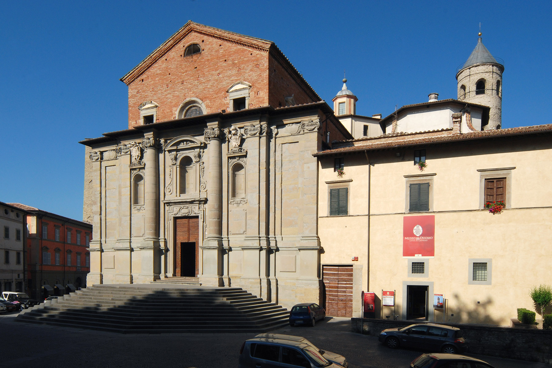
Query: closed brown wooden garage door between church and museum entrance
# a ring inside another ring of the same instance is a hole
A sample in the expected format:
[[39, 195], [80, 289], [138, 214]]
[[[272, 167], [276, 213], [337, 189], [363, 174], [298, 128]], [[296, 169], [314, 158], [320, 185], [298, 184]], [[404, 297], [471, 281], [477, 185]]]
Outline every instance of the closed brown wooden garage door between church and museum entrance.
[[326, 287], [326, 314], [353, 317], [353, 266], [322, 266]]

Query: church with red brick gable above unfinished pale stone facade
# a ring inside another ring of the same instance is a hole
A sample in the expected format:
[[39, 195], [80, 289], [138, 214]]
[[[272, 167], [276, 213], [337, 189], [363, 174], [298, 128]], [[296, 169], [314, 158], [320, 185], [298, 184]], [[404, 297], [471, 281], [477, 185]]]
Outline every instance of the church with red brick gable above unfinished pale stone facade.
[[188, 22], [121, 81], [128, 129], [81, 142], [88, 284], [319, 300], [313, 154], [352, 136], [273, 42]]

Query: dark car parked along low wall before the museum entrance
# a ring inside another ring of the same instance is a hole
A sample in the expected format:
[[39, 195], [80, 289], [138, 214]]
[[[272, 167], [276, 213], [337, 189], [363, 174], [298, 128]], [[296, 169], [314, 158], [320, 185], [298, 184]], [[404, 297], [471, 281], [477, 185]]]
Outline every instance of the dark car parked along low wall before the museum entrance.
[[459, 328], [436, 323], [411, 324], [403, 328], [384, 329], [379, 334], [379, 340], [391, 349], [402, 346], [448, 354], [462, 353], [468, 350], [468, 344], [462, 337]]

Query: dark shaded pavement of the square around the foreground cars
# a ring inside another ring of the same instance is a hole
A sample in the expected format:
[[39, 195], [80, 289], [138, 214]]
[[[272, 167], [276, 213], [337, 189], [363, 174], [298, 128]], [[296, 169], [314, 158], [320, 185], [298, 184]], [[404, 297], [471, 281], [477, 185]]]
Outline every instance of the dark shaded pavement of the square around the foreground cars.
[[[0, 314], [0, 367], [209, 368], [237, 367], [240, 347], [252, 333], [116, 334], [15, 322]], [[326, 318], [316, 327], [284, 327], [274, 333], [304, 336], [321, 349], [344, 355], [349, 367], [408, 367], [415, 350], [390, 350], [378, 338], [351, 332], [349, 318]], [[474, 355], [476, 356], [476, 355]], [[497, 368], [550, 368], [521, 360], [476, 356]]]

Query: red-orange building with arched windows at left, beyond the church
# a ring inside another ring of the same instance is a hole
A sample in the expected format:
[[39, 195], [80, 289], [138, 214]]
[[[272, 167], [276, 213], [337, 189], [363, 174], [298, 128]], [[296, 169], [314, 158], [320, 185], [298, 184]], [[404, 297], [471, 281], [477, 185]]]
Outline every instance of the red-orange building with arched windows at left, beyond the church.
[[92, 225], [43, 210], [10, 203], [26, 215], [26, 291], [41, 300], [86, 286]]

